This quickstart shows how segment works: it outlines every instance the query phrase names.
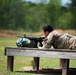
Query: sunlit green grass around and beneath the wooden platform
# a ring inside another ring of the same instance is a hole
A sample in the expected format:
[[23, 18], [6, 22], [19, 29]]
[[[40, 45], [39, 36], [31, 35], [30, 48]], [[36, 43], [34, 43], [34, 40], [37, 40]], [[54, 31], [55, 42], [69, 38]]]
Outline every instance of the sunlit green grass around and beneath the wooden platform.
[[[26, 72], [15, 72], [24, 71], [27, 66], [32, 66], [32, 57], [15, 57], [14, 72], [8, 72], [7, 68], [7, 57], [4, 55], [4, 48], [7, 46], [16, 46], [15, 42], [18, 38], [16, 37], [0, 37], [0, 75], [36, 75], [33, 73]], [[59, 68], [59, 59], [51, 58], [40, 58], [40, 67], [43, 68]], [[76, 68], [76, 60], [71, 60], [70, 67]]]

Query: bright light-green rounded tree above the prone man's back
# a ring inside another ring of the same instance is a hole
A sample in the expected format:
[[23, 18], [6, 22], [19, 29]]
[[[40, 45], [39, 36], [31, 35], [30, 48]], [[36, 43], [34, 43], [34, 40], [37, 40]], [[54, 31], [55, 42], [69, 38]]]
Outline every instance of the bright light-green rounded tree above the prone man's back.
[[58, 20], [58, 27], [61, 29], [70, 29], [71, 28], [71, 20], [73, 16], [70, 12], [63, 14]]

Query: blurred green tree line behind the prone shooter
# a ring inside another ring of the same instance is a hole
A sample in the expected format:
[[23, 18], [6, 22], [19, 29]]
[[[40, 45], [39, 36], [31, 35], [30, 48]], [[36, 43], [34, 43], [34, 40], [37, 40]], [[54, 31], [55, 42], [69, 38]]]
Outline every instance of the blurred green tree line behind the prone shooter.
[[40, 31], [45, 24], [54, 28], [76, 29], [76, 0], [62, 5], [61, 0], [0, 0], [0, 30]]

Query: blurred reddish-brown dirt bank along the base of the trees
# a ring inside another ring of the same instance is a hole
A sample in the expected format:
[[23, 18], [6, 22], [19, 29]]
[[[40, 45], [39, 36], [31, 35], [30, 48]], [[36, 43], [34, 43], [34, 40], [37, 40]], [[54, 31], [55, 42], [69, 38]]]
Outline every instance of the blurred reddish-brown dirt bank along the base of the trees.
[[[60, 33], [69, 33], [69, 34], [76, 34], [76, 30], [61, 30], [61, 29], [56, 29], [58, 32]], [[34, 32], [34, 33], [17, 33], [14, 31], [8, 31], [8, 30], [3, 30], [0, 31], [0, 36], [4, 36], [4, 37], [17, 37], [17, 36], [21, 36], [23, 34], [26, 35], [30, 35], [30, 36], [41, 36], [42, 32]]]

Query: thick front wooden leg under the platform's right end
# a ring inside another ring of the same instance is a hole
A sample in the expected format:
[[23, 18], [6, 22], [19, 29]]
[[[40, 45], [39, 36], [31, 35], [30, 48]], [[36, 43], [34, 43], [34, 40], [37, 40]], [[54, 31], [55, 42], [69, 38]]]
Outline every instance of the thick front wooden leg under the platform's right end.
[[62, 59], [62, 75], [68, 75], [69, 59]]

